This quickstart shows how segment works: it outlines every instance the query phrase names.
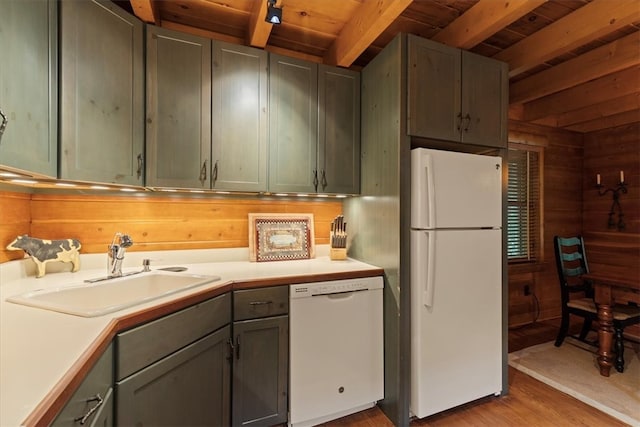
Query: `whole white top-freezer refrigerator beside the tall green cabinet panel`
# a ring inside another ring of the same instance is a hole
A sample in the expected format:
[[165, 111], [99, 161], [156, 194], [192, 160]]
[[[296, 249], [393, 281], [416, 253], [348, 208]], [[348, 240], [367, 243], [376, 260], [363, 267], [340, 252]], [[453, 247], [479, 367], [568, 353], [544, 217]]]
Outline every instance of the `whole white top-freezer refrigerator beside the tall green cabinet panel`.
[[411, 413], [502, 390], [502, 159], [411, 152]]

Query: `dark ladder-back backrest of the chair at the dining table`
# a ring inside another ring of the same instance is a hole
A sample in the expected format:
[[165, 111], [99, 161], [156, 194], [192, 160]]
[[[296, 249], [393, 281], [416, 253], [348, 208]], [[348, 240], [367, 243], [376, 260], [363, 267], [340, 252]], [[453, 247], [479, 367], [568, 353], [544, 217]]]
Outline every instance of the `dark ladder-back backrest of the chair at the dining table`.
[[585, 291], [591, 293], [591, 285], [580, 279], [581, 275], [589, 272], [582, 236], [555, 236], [553, 246], [563, 299], [565, 292]]

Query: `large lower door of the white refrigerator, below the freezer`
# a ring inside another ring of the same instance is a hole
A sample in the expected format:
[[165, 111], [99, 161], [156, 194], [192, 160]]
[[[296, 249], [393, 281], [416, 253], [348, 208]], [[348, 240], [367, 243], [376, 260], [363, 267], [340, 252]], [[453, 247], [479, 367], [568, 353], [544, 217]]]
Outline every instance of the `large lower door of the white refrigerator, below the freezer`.
[[[429, 247], [434, 256], [419, 253]], [[412, 231], [411, 412], [423, 418], [502, 389], [501, 230]], [[422, 241], [422, 243], [420, 243]], [[416, 273], [416, 274], [414, 274]]]

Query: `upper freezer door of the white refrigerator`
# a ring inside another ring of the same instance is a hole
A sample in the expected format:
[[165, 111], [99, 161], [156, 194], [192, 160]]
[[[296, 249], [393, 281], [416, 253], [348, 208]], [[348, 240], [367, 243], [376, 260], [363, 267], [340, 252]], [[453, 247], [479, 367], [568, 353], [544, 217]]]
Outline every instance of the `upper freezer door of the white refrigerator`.
[[411, 151], [411, 228], [502, 226], [502, 159]]

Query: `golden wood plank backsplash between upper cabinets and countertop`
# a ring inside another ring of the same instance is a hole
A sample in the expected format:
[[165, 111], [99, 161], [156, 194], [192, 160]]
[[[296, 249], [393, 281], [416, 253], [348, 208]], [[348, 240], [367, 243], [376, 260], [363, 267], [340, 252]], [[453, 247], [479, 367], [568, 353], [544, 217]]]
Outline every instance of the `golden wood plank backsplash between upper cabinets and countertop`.
[[20, 234], [76, 238], [82, 253], [106, 253], [118, 231], [131, 235], [129, 251], [247, 247], [249, 213], [312, 213], [316, 244], [328, 244], [342, 202], [0, 192], [0, 262], [22, 258], [5, 249]]

